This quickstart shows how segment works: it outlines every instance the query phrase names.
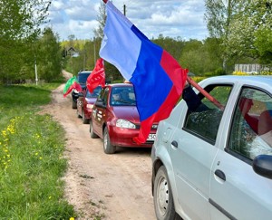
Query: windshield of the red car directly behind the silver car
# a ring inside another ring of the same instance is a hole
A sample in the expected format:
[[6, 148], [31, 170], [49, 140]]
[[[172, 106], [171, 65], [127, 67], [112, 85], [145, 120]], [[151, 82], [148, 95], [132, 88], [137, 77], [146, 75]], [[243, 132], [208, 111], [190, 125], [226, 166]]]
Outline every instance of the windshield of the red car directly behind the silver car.
[[135, 106], [135, 93], [133, 87], [114, 87], [111, 92], [112, 106]]

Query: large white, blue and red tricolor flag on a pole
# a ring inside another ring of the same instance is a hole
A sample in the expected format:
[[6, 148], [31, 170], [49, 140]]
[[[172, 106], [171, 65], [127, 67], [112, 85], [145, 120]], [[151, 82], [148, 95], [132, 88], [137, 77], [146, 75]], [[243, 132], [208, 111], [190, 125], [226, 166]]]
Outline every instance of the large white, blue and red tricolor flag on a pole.
[[169, 117], [180, 98], [188, 70], [170, 53], [151, 41], [107, 1], [107, 20], [100, 56], [111, 62], [134, 86], [141, 130], [138, 143], [146, 141], [153, 122]]

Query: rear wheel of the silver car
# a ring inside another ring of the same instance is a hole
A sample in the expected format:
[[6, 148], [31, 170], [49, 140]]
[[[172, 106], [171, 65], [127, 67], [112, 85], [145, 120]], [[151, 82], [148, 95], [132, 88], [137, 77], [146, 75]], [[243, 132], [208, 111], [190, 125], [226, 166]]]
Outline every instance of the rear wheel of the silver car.
[[170, 181], [164, 166], [159, 168], [155, 177], [153, 195], [157, 219], [174, 220], [179, 218], [175, 212]]

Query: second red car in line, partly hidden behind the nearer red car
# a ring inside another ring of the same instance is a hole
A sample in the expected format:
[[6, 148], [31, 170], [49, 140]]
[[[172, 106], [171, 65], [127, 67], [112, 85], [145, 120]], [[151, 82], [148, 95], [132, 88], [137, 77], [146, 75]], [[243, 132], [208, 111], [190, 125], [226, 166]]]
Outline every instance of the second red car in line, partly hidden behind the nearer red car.
[[97, 99], [101, 90], [102, 87], [98, 86], [94, 89], [94, 91], [92, 91], [92, 93], [88, 89], [78, 93], [77, 116], [83, 119], [83, 124], [89, 123], [89, 120], [92, 117], [93, 103]]

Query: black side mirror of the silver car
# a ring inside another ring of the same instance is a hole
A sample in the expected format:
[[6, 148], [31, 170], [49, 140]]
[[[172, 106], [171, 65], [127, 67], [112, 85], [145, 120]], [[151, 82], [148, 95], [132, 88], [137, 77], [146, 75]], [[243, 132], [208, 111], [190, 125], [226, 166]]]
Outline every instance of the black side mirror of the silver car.
[[272, 179], [272, 155], [258, 155], [252, 167], [258, 175]]

